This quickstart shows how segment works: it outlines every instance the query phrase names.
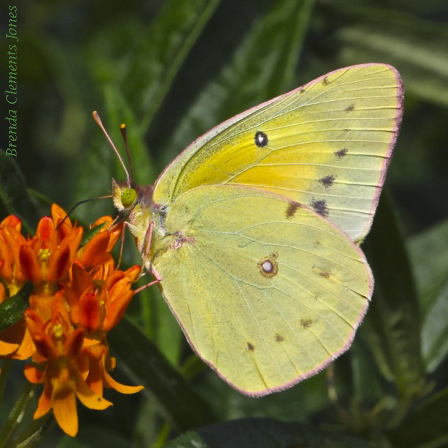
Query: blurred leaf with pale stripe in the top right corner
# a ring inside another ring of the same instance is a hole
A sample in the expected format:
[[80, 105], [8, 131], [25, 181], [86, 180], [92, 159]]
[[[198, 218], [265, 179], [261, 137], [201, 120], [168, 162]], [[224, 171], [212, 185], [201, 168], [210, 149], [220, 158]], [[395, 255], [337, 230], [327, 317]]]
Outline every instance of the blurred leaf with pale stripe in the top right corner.
[[[448, 27], [394, 10], [338, 3], [348, 24], [338, 27], [342, 65], [384, 62], [403, 76], [407, 93], [448, 105]], [[428, 48], [431, 49], [428, 52]]]

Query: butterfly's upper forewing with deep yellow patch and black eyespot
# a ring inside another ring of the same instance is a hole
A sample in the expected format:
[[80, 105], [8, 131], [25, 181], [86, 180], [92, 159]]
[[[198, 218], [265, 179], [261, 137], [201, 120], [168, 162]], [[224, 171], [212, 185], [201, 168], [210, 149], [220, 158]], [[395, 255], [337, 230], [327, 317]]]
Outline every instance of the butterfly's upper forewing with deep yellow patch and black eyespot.
[[305, 203], [360, 240], [368, 232], [401, 121], [393, 67], [359, 65], [217, 126], [168, 166], [154, 199], [191, 188], [250, 186]]

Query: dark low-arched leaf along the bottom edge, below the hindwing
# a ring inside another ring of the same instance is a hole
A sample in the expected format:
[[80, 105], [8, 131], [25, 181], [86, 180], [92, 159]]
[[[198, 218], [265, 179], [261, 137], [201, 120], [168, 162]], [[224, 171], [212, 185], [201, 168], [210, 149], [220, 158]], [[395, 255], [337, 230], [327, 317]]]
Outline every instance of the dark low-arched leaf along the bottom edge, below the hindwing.
[[241, 418], [190, 431], [164, 445], [164, 448], [371, 448], [361, 438], [348, 437], [301, 423], [273, 418]]

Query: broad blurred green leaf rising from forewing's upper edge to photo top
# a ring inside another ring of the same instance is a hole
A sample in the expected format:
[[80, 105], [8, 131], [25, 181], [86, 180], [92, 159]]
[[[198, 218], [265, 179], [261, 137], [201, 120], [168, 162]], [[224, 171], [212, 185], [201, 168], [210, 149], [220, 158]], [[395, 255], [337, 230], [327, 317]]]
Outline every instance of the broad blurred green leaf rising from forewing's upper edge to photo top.
[[279, 0], [247, 24], [232, 60], [177, 126], [166, 145], [166, 162], [175, 157], [173, 148], [179, 150], [232, 115], [297, 87], [295, 70], [313, 5], [313, 0]]

